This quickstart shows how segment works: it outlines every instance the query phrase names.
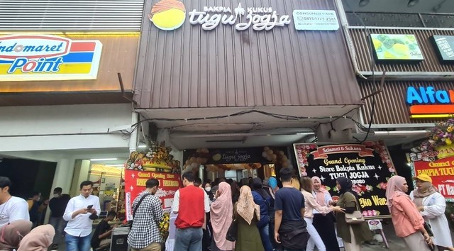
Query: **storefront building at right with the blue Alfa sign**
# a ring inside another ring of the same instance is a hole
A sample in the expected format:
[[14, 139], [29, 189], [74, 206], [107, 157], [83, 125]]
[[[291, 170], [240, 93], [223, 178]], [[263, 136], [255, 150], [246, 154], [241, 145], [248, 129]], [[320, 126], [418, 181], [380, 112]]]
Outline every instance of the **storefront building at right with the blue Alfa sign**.
[[362, 125], [371, 122], [371, 138], [384, 140], [397, 172], [411, 177], [405, 154], [453, 114], [454, 23], [448, 13], [454, 6], [448, 1], [337, 4], [345, 13], [341, 21], [361, 96], [367, 97]]

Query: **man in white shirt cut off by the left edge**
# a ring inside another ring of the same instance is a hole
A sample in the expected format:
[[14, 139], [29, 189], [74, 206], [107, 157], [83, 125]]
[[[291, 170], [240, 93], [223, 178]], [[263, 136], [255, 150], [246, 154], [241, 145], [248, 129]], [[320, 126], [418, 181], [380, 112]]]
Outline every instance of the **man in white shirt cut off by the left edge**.
[[17, 220], [30, 221], [27, 201], [11, 196], [11, 185], [9, 178], [0, 176], [0, 227]]

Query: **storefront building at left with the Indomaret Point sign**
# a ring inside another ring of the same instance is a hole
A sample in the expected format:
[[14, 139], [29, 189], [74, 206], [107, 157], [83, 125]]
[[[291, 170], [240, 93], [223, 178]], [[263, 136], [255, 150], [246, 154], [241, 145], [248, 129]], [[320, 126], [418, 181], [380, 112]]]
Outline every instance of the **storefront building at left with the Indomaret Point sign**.
[[0, 175], [13, 179], [16, 194], [48, 197], [60, 186], [74, 195], [86, 179], [109, 196], [112, 184], [119, 190], [115, 167], [138, 145], [132, 93], [143, 4], [1, 4]]

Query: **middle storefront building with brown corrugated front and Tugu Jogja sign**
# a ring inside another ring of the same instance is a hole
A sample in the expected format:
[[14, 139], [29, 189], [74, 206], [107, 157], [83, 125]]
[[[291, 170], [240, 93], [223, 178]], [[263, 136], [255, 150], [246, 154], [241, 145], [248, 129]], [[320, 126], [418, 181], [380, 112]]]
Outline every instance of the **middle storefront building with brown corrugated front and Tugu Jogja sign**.
[[[167, 22], [170, 9], [178, 21]], [[134, 91], [142, 123], [179, 151], [261, 155], [315, 134], [351, 138], [360, 91], [337, 12], [334, 1], [147, 1]]]

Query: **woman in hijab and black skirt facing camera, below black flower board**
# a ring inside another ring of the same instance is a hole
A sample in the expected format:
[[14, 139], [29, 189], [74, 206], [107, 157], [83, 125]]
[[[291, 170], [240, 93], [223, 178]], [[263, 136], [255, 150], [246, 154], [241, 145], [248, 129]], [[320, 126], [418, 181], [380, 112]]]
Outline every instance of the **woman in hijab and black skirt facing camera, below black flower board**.
[[[330, 206], [333, 203], [331, 194], [321, 186], [321, 180], [319, 177], [312, 177], [312, 194], [314, 195], [316, 202], [320, 206]], [[334, 229], [334, 214], [333, 213], [320, 213], [314, 210], [314, 220], [312, 225], [319, 233], [321, 240], [325, 243], [326, 250], [341, 251], [338, 245], [338, 239], [336, 237], [336, 230]]]

